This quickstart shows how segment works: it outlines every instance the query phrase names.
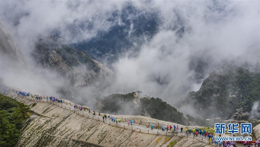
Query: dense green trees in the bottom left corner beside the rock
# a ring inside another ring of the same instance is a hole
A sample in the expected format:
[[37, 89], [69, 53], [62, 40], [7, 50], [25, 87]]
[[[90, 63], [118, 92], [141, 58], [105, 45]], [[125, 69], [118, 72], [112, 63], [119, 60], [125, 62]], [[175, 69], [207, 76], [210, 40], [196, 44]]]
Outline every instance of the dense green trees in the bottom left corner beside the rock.
[[29, 118], [29, 106], [0, 94], [0, 146], [14, 146], [20, 137], [23, 120]]

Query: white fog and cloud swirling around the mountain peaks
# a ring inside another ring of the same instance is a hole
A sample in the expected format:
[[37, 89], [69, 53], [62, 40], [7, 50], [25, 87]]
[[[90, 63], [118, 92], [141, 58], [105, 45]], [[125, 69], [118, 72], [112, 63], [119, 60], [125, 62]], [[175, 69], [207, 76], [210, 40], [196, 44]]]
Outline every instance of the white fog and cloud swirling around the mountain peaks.
[[[66, 81], [55, 71], [35, 67], [29, 56], [36, 38], [59, 32], [67, 44], [90, 40], [114, 25], [125, 25], [113, 12], [121, 12], [129, 3], [140, 10], [131, 17], [145, 12], [158, 15], [158, 31], [152, 37], [129, 38], [144, 40], [136, 43], [138, 53], [132, 46], [116, 62], [103, 60], [115, 73], [114, 81], [98, 91], [94, 86], [80, 89], [75, 94], [77, 102], [94, 103], [96, 97], [142, 90], [141, 97], [159, 97], [178, 107], [185, 94], [199, 90], [203, 79], [223, 61], [259, 44], [259, 1], [1, 1], [0, 21], [26, 55], [28, 67], [48, 73], [23, 71], [17, 76], [1, 66], [1, 77], [8, 85], [26, 91], [60, 95], [55, 88]], [[111, 17], [114, 21], [108, 21]], [[125, 31], [131, 34], [134, 29]], [[203, 72], [198, 73], [197, 68]], [[31, 86], [18, 79], [28, 80]]]

